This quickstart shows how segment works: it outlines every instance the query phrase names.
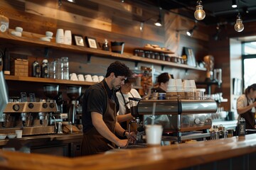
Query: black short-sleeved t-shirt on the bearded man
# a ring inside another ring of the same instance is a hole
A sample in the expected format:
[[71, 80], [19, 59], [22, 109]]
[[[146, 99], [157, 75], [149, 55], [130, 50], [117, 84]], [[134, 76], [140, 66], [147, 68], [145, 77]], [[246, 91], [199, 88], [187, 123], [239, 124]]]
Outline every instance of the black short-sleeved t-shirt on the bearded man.
[[107, 91], [107, 96], [101, 83], [94, 84], [85, 91], [82, 100], [82, 132], [87, 132], [93, 128], [91, 112], [97, 112], [102, 115], [105, 113], [107, 109], [107, 97], [116, 103], [116, 109], [119, 111], [119, 102], [114, 89], [110, 90], [105, 79], [103, 80], [103, 84]]

